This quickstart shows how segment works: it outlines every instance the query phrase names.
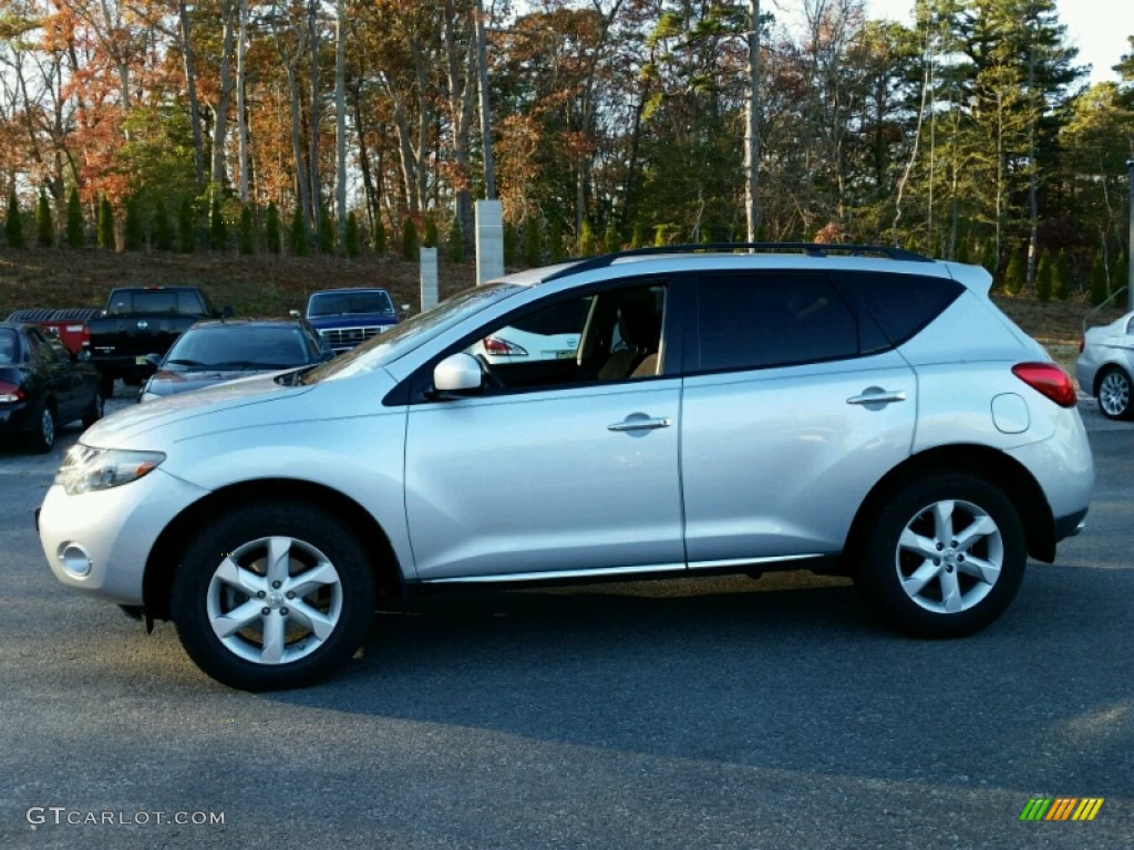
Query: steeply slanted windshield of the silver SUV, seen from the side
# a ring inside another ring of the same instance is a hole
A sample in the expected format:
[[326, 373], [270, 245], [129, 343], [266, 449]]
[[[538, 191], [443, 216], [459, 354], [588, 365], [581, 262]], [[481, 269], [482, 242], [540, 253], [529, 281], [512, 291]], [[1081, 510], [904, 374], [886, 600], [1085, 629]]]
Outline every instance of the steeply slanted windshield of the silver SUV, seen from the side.
[[382, 368], [468, 316], [525, 289], [527, 287], [518, 283], [491, 283], [457, 292], [435, 307], [393, 325], [386, 333], [307, 372], [302, 383], [313, 384]]

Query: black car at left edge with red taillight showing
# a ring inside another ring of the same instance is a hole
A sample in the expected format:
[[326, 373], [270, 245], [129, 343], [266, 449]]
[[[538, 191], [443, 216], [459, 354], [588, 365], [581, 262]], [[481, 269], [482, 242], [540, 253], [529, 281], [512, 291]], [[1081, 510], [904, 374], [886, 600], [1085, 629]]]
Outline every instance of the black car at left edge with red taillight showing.
[[102, 417], [94, 366], [77, 360], [40, 328], [0, 323], [0, 434], [26, 436], [36, 451], [56, 444], [56, 428]]

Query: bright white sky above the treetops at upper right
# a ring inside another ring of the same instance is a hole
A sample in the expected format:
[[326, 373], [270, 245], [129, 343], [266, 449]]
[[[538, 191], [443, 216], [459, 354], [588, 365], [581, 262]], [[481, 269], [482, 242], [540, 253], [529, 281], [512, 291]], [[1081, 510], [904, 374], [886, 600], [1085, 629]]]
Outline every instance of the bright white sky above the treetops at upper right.
[[[781, 0], [784, 2], [784, 0]], [[914, 0], [866, 0], [872, 17], [908, 24]], [[1091, 82], [1117, 80], [1110, 66], [1131, 51], [1127, 36], [1134, 35], [1134, 2], [1131, 0], [1056, 0], [1059, 19], [1067, 26], [1067, 41], [1078, 48], [1078, 65], [1092, 66]]]

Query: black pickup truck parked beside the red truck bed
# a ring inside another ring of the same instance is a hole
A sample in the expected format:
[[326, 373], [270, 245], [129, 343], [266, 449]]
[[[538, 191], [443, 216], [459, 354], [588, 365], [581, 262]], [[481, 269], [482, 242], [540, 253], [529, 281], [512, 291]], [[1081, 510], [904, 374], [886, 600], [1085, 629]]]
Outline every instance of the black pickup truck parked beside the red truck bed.
[[[231, 314], [226, 308], [225, 314]], [[91, 364], [99, 369], [103, 398], [115, 379], [139, 384], [153, 371], [146, 355], [164, 355], [178, 334], [202, 318], [219, 318], [196, 287], [120, 287], [110, 290], [102, 316], [91, 318]]]

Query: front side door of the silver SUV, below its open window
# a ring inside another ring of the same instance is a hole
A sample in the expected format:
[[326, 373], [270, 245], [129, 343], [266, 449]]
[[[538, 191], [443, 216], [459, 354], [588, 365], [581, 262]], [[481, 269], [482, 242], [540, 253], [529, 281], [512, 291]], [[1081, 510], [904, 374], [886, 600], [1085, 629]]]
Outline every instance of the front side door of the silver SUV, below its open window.
[[[411, 405], [406, 517], [420, 579], [684, 571], [680, 379], [660, 356], [650, 375], [627, 368], [598, 380], [589, 365], [613, 354], [602, 349], [613, 333], [611, 298], [620, 295], [603, 294], [611, 309], [602, 330], [601, 305], [579, 312], [591, 316], [577, 329], [586, 337], [574, 360], [551, 356], [555, 368], [542, 380], [552, 383], [530, 383], [538, 369], [526, 368], [511, 386]], [[458, 349], [475, 350], [509, 321], [482, 328]], [[665, 350], [665, 333], [655, 345]]]

